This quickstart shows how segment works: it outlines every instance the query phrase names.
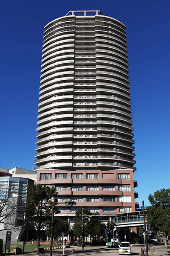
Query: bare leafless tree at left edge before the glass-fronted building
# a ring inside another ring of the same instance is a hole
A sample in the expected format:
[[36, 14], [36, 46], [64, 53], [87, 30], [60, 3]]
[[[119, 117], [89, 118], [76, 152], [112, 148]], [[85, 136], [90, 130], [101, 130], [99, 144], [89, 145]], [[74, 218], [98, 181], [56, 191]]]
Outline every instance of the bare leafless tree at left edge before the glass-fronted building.
[[18, 195], [13, 188], [10, 191], [0, 184], [0, 231], [16, 230]]

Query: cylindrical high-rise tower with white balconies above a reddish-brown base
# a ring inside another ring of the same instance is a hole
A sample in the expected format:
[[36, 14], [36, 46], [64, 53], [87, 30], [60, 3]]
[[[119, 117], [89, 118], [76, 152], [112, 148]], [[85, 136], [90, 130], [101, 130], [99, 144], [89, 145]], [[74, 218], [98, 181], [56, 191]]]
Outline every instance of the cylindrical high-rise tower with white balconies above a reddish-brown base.
[[125, 25], [70, 11], [45, 26], [35, 164], [61, 207], [134, 211], [133, 128]]

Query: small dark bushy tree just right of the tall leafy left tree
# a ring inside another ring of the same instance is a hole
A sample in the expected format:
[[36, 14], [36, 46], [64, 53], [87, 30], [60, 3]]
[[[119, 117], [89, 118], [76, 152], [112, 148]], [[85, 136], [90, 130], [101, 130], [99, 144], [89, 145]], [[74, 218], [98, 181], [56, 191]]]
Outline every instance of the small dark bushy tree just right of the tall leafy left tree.
[[[67, 219], [63, 217], [54, 217], [53, 236], [56, 240], [61, 237], [61, 233], [64, 233], [65, 236], [67, 236], [70, 231], [70, 224]], [[51, 230], [47, 230], [46, 234], [51, 237]]]

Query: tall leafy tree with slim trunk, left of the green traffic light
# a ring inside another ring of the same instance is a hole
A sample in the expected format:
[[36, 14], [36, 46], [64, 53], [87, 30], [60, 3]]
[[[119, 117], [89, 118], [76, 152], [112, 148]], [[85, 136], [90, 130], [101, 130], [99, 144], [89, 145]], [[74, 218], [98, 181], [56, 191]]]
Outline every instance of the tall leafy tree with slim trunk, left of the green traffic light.
[[[30, 200], [26, 207], [26, 226], [34, 226], [37, 230], [37, 252], [40, 250], [40, 233], [47, 224], [51, 224], [51, 209], [54, 198], [54, 205], [57, 204], [57, 191], [54, 187], [38, 184], [29, 194]], [[54, 212], [59, 213], [58, 207]]]

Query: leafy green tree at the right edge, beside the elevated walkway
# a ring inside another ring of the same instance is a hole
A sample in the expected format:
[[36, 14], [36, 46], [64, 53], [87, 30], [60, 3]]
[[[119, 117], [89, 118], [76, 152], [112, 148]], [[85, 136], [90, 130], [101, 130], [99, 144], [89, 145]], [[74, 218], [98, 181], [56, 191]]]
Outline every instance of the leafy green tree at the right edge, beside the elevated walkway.
[[153, 232], [163, 234], [167, 248], [167, 238], [170, 237], [170, 189], [158, 190], [148, 199], [151, 206], [146, 209], [147, 223], [151, 224]]

